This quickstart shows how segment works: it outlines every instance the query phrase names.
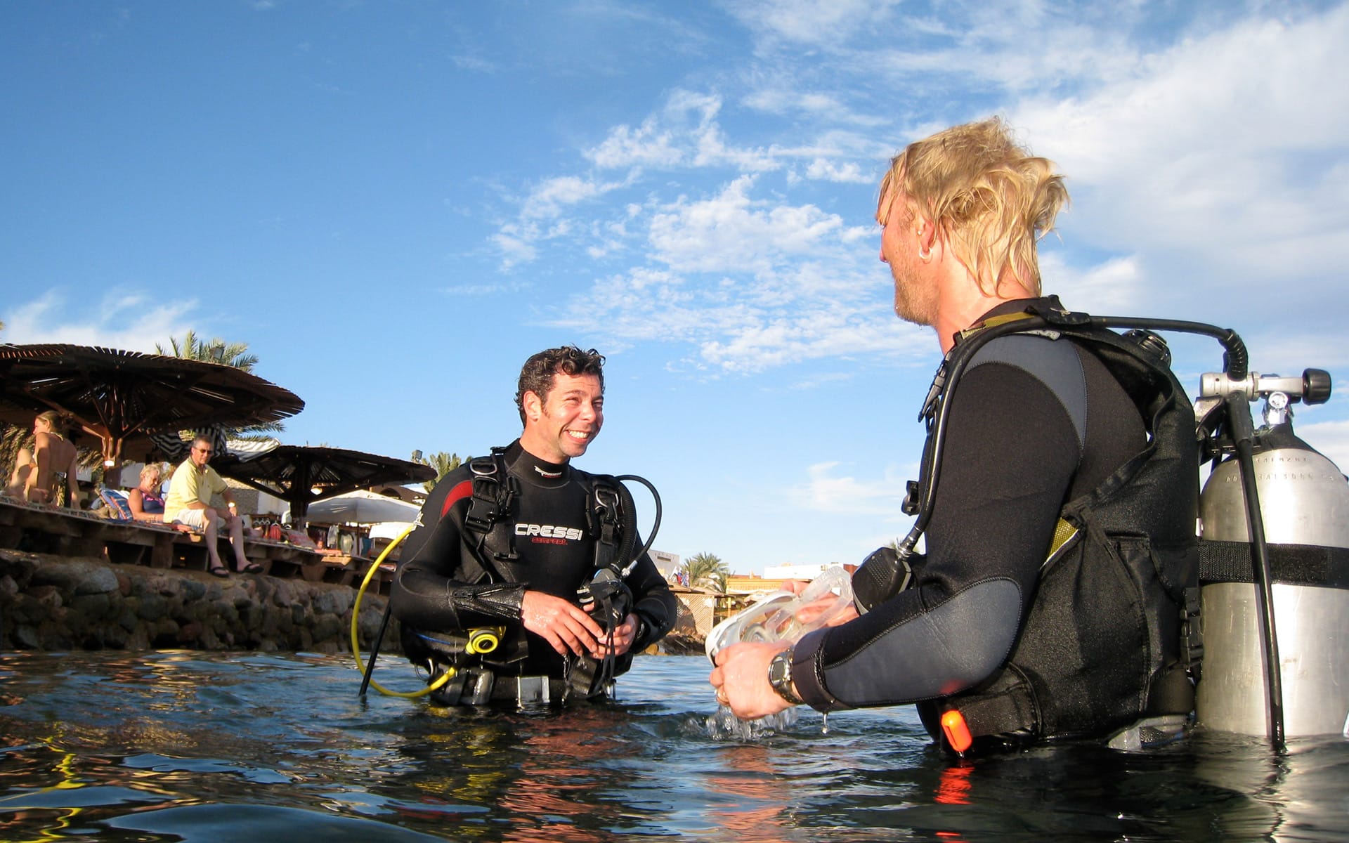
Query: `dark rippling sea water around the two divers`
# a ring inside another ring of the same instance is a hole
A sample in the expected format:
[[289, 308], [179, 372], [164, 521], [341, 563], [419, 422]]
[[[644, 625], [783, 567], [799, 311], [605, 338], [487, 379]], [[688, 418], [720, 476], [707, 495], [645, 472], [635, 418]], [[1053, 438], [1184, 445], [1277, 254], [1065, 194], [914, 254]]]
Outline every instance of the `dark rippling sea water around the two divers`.
[[911, 708], [710, 728], [707, 672], [514, 712], [362, 700], [351, 657], [0, 654], [0, 840], [1349, 840], [1342, 738], [960, 762]]

